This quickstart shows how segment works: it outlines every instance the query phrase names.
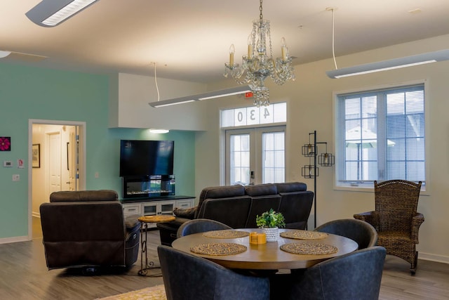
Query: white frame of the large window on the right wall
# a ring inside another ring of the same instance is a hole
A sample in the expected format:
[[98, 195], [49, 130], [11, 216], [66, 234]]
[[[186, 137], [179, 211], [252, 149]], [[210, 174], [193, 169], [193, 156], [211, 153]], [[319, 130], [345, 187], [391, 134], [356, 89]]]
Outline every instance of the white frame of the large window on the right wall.
[[[401, 89], [406, 88], [407, 86], [415, 86], [422, 84], [424, 85], [424, 136], [426, 143], [424, 145], [424, 160], [425, 160], [425, 178], [426, 181], [422, 183], [421, 190], [422, 195], [428, 195], [429, 194], [429, 182], [430, 179], [430, 162], [429, 162], [429, 144], [431, 141], [430, 139], [430, 119], [429, 119], [429, 107], [431, 100], [429, 98], [429, 80], [428, 79], [419, 79], [414, 81], [405, 81], [400, 82], [396, 84], [384, 84], [380, 86], [368, 86], [358, 89], [350, 89], [350, 90], [342, 90], [342, 91], [333, 91], [333, 144], [335, 148], [335, 169], [333, 173], [333, 188], [334, 190], [349, 190], [349, 191], [374, 191], [374, 185], [373, 181], [366, 181], [365, 183], [359, 183], [357, 186], [352, 186], [350, 183], [347, 183], [346, 185], [342, 184], [341, 181], [339, 181], [339, 176], [337, 174], [342, 174], [342, 168], [344, 168], [344, 164], [340, 165], [340, 162], [338, 161], [337, 157], [341, 157], [342, 151], [344, 151], [344, 148], [342, 148], [340, 145], [337, 145], [337, 135], [338, 135], [338, 122], [341, 122], [340, 119], [338, 119], [339, 116], [339, 96], [342, 94], [350, 94], [350, 93], [370, 93], [380, 90], [387, 90], [387, 89]], [[344, 153], [343, 153], [344, 155]]]

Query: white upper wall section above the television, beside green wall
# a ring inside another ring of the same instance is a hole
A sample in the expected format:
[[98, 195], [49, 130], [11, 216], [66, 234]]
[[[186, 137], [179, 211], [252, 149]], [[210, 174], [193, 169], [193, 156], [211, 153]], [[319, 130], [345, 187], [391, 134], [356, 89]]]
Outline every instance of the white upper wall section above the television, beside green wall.
[[[159, 100], [206, 92], [206, 84], [173, 79], [157, 79]], [[177, 130], [206, 130], [201, 103], [151, 107], [158, 100], [154, 77], [120, 73], [111, 78], [109, 126]]]

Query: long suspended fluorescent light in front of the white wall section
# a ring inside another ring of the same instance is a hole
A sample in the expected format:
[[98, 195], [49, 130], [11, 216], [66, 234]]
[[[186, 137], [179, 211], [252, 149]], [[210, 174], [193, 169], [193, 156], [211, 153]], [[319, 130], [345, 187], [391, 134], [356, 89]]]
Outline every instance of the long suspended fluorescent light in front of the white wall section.
[[223, 90], [219, 90], [219, 91], [210, 91], [207, 93], [200, 93], [198, 95], [193, 95], [193, 96], [185, 96], [185, 97], [180, 97], [180, 98], [173, 98], [173, 99], [168, 99], [168, 100], [150, 102], [148, 104], [152, 107], [163, 107], [163, 106], [168, 106], [168, 105], [194, 102], [194, 101], [198, 101], [198, 100], [207, 100], [207, 99], [213, 99], [213, 98], [238, 95], [240, 93], [246, 93], [249, 91], [251, 91], [249, 86], [236, 86], [236, 87], [230, 88], [230, 89], [223, 89]]

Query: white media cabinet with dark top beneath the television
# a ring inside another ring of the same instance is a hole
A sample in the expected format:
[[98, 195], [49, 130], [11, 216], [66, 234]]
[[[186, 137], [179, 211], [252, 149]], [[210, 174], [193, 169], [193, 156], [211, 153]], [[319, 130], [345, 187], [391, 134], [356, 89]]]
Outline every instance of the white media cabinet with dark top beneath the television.
[[[123, 215], [156, 216], [160, 214], [173, 215], [173, 209], [179, 207], [188, 209], [194, 206], [194, 198], [177, 200], [142, 200], [142, 202], [123, 203]], [[156, 223], [148, 223], [148, 228], [156, 227]]]

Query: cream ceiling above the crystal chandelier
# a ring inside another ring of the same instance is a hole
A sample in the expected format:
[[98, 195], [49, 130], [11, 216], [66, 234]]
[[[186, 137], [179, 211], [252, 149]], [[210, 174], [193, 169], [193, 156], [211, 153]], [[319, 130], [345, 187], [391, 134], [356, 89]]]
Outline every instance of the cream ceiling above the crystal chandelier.
[[[0, 63], [149, 76], [156, 63], [157, 77], [207, 83], [224, 79], [230, 44], [240, 63], [259, 18], [257, 0], [100, 0], [40, 27], [25, 16], [39, 2], [0, 0], [0, 50], [15, 52]], [[326, 8], [337, 58], [449, 33], [448, 0], [265, 0], [274, 56], [285, 37], [295, 65], [331, 58]]]

